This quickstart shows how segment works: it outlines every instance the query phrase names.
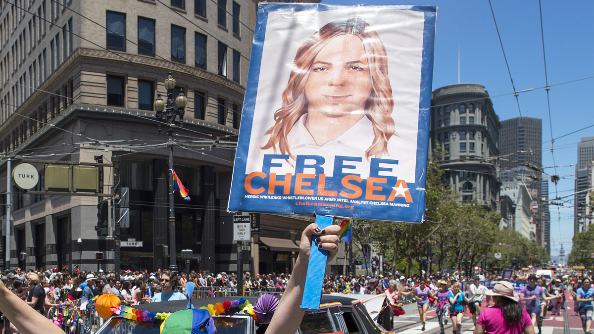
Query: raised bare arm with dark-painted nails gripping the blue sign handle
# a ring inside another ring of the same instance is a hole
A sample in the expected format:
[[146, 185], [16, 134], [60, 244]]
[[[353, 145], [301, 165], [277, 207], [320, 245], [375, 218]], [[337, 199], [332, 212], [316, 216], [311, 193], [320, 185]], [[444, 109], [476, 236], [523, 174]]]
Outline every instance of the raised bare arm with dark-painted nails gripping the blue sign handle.
[[338, 251], [339, 236], [337, 234], [340, 232], [340, 226], [331, 225], [324, 228], [324, 234], [321, 232], [315, 223], [310, 224], [303, 231], [299, 256], [295, 261], [295, 267], [293, 267], [293, 273], [289, 283], [287, 283], [285, 293], [280, 299], [270, 325], [268, 325], [267, 334], [295, 333], [299, 328], [305, 314], [305, 311], [301, 310], [299, 305], [301, 305], [303, 299], [312, 240], [320, 238], [318, 244], [322, 245], [323, 250], [328, 251], [328, 262], [336, 256]]

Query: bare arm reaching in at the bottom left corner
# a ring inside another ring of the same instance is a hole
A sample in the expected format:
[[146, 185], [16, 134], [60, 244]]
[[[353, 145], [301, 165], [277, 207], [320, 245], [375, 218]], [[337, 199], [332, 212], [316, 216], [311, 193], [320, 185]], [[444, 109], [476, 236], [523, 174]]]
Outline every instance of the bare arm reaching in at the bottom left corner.
[[60, 327], [50, 326], [51, 322], [48, 322], [46, 317], [10, 292], [2, 281], [0, 281], [0, 311], [23, 334], [64, 334]]

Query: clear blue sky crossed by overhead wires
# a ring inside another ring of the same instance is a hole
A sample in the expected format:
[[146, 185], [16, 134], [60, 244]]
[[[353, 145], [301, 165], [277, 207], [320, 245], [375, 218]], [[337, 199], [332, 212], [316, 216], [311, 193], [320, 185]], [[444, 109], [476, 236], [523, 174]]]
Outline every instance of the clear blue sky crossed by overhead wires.
[[[323, 4], [355, 5], [361, 1], [323, 0]], [[365, 4], [435, 5], [437, 33], [433, 89], [458, 82], [458, 47], [460, 47], [460, 82], [479, 83], [491, 96], [513, 93], [503, 53], [487, 0], [472, 1], [370, 1]], [[542, 54], [541, 22], [538, 0], [492, 0], [495, 19], [503, 41], [511, 76], [517, 90], [545, 86]], [[546, 69], [549, 85], [594, 76], [594, 2], [542, 1]], [[594, 79], [551, 87], [551, 120], [549, 122], [544, 89], [520, 93], [522, 116], [542, 119], [542, 165], [554, 166], [551, 155], [552, 137], [594, 124]], [[500, 120], [519, 116], [513, 94], [493, 97]], [[577, 143], [582, 136], [594, 136], [594, 128], [555, 141], [555, 162], [558, 166], [575, 164]], [[554, 174], [554, 169], [545, 172]], [[573, 193], [575, 167], [557, 168], [559, 196]], [[547, 177], [546, 175], [544, 175]], [[549, 181], [549, 198], [555, 197], [555, 186]], [[573, 196], [565, 207], [550, 206], [551, 255], [557, 256], [560, 242], [571, 250], [573, 237]], [[557, 210], [559, 209], [559, 210]]]

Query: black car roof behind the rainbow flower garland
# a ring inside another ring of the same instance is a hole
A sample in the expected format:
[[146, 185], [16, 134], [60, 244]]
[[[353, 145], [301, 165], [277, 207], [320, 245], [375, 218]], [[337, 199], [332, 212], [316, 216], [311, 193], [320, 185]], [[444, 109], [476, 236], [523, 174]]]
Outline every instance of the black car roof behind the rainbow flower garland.
[[[214, 297], [214, 298], [192, 298], [192, 305], [194, 308], [200, 308], [207, 306], [208, 304], [223, 303], [224, 301], [238, 300], [244, 298], [249, 301], [252, 305], [256, 303], [260, 296], [244, 296], [244, 297]], [[279, 295], [275, 296], [280, 299]], [[340, 303], [343, 305], [351, 305], [355, 298], [345, 297], [343, 295], [322, 295], [320, 304], [328, 303]], [[185, 310], [188, 306], [188, 300], [172, 300], [172, 301], [161, 301], [159, 303], [147, 303], [134, 305], [133, 308], [154, 313], [173, 313], [176, 311]], [[236, 311], [233, 314], [245, 314], [243, 311]], [[230, 315], [230, 314], [226, 314]]]

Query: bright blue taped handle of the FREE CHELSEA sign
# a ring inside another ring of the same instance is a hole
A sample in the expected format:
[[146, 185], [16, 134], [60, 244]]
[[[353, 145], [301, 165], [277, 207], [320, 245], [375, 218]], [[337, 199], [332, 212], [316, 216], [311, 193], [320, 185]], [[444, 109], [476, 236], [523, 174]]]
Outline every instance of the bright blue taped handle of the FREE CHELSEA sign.
[[[315, 223], [320, 229], [324, 229], [332, 225], [333, 219], [331, 216], [316, 216]], [[311, 242], [311, 252], [309, 253], [303, 300], [301, 301], [301, 309], [304, 311], [317, 311], [320, 309], [327, 258], [328, 251], [318, 248], [314, 236], [314, 240]]]

